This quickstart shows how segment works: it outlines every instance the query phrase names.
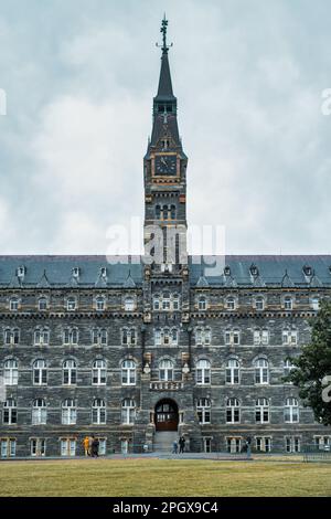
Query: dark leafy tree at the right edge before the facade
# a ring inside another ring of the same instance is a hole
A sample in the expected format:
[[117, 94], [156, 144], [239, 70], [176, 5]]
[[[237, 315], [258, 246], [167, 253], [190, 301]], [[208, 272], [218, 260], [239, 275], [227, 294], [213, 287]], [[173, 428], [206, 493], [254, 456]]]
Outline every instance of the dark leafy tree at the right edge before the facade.
[[[286, 381], [299, 388], [300, 399], [310, 406], [318, 422], [331, 425], [331, 303], [322, 301], [310, 320], [311, 341], [297, 358]], [[327, 379], [329, 378], [329, 379]], [[330, 388], [328, 388], [330, 386]]]

